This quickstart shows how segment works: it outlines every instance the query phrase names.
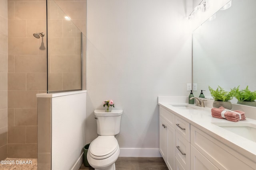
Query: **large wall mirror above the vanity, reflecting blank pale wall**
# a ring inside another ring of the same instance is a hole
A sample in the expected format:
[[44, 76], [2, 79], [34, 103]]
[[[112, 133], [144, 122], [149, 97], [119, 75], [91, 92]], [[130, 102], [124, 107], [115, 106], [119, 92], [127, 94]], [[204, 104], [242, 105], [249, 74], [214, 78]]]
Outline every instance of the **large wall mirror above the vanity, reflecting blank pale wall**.
[[[240, 85], [256, 90], [256, 1], [232, 0], [232, 6], [219, 10], [214, 20], [204, 22], [193, 32], [193, 83], [211, 98], [208, 86], [226, 91]], [[232, 103], [237, 103], [233, 98]]]

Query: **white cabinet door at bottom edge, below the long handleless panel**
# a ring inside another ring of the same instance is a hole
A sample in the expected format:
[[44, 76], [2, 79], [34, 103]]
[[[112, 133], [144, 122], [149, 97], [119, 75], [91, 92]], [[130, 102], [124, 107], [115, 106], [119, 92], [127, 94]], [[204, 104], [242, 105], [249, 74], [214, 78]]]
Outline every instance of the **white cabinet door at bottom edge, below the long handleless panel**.
[[191, 145], [190, 170], [218, 170], [218, 168]]

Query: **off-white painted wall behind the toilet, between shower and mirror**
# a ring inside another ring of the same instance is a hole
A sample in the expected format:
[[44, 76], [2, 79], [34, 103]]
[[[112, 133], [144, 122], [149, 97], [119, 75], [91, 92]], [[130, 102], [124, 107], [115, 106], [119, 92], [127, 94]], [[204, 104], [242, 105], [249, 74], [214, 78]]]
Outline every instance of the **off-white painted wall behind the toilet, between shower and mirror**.
[[158, 96], [188, 96], [192, 36], [186, 1], [87, 1], [86, 141], [94, 109], [123, 109], [120, 156], [160, 156]]

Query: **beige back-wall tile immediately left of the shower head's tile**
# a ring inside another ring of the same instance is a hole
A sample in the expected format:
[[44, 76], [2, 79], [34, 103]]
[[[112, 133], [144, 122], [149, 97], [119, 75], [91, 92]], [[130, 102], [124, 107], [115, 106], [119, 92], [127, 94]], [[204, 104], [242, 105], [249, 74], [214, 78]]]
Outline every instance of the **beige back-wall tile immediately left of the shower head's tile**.
[[8, 37], [26, 37], [26, 20], [9, 20]]

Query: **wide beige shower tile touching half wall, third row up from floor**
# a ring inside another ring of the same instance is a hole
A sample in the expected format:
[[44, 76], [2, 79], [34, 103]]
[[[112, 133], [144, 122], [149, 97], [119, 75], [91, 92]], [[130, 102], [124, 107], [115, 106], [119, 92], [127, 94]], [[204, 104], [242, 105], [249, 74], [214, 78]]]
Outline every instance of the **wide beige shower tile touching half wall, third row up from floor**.
[[14, 109], [14, 126], [36, 126], [36, 108], [16, 108]]

